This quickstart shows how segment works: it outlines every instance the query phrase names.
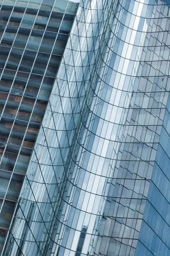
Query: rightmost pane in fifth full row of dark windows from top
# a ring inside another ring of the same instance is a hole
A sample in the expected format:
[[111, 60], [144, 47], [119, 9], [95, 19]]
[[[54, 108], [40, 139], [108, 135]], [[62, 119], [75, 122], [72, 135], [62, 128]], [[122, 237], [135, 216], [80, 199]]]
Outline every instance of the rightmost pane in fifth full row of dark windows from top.
[[31, 116], [32, 122], [41, 123], [47, 107], [48, 101], [37, 99], [34, 111]]

